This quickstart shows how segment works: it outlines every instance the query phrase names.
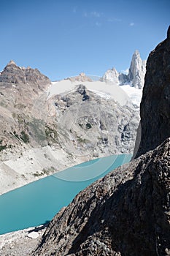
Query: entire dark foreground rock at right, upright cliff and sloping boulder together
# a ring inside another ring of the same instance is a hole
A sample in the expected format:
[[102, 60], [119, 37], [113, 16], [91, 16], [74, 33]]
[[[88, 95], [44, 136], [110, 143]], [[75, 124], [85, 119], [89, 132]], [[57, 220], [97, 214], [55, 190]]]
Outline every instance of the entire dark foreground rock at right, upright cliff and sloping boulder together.
[[170, 255], [169, 39], [170, 29], [147, 61], [137, 153], [145, 154], [80, 192], [32, 255]]

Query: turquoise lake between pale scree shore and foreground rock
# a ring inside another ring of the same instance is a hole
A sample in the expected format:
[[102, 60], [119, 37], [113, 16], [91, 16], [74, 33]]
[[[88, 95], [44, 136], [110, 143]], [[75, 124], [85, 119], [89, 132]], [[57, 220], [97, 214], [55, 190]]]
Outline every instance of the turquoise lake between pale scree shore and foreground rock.
[[131, 154], [94, 159], [1, 195], [0, 234], [45, 224], [78, 192], [130, 159]]

